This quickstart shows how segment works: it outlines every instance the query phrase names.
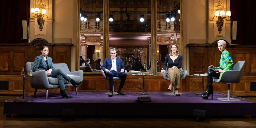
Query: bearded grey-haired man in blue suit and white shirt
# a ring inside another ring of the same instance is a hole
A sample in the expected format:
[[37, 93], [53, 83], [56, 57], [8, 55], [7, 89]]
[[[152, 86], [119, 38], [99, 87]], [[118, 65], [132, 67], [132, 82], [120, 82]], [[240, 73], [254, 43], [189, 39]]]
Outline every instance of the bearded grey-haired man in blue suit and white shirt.
[[121, 82], [118, 88], [117, 93], [120, 95], [124, 95], [122, 92], [122, 88], [124, 87], [124, 82], [126, 80], [127, 74], [124, 73], [125, 67], [124, 63], [120, 58], [116, 58], [117, 50], [115, 48], [110, 49], [110, 58], [106, 58], [102, 70], [105, 71], [107, 77], [109, 77], [109, 96], [113, 96], [113, 77], [121, 78]]

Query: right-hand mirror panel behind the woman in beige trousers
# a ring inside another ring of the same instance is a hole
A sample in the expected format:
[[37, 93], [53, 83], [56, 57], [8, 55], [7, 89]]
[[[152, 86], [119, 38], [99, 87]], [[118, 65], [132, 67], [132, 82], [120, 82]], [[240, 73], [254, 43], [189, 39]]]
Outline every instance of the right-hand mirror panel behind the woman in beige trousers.
[[170, 54], [172, 43], [180, 48], [180, 0], [157, 1], [157, 74], [164, 66], [165, 57]]

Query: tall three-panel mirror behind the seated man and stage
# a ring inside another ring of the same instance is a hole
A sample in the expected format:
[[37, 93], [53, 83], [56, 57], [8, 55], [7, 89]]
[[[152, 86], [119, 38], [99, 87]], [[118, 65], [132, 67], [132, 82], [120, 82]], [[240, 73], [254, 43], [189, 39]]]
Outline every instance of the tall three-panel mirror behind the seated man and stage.
[[[151, 1], [109, 0], [109, 49], [116, 48], [127, 70], [145, 70], [151, 67], [162, 69], [170, 46], [180, 43], [179, 0], [157, 1], [157, 48], [151, 51]], [[90, 59], [91, 69], [103, 60], [103, 0], [80, 0], [80, 65]], [[96, 19], [96, 18], [99, 19]], [[140, 19], [144, 18], [141, 22]], [[175, 17], [166, 21], [166, 17]], [[156, 57], [151, 57], [151, 52]], [[110, 57], [108, 52], [106, 57]], [[151, 60], [158, 66], [151, 66]], [[84, 63], [85, 62], [85, 63]], [[136, 63], [142, 65], [136, 67]], [[160, 72], [159, 70], [157, 70]], [[157, 74], [157, 73], [155, 73]], [[160, 73], [159, 73], [160, 74]]]

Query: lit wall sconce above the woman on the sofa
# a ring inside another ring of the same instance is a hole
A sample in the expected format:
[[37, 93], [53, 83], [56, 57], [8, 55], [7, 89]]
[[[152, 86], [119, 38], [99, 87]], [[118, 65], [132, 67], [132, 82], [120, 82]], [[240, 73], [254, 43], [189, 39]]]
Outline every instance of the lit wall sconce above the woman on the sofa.
[[46, 15], [46, 10], [42, 9], [42, 13], [40, 13], [39, 8], [31, 8], [30, 13], [32, 13], [33, 17], [37, 18], [37, 24], [39, 25], [40, 31], [42, 31], [44, 25], [44, 15]]

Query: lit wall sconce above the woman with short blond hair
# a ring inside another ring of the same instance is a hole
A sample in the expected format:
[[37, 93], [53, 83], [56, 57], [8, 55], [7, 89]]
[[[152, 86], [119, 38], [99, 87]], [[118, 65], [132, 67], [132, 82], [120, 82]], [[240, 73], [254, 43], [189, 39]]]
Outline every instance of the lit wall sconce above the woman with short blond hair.
[[224, 24], [224, 20], [227, 20], [229, 18], [229, 16], [231, 16], [231, 12], [227, 11], [226, 16], [225, 16], [225, 11], [224, 10], [221, 10], [220, 12], [216, 11], [214, 13], [214, 16], [216, 16], [216, 18], [217, 18], [216, 24], [217, 24], [217, 27], [218, 27], [218, 31], [220, 33], [221, 29], [223, 27], [223, 24]]

